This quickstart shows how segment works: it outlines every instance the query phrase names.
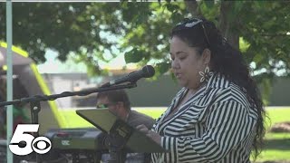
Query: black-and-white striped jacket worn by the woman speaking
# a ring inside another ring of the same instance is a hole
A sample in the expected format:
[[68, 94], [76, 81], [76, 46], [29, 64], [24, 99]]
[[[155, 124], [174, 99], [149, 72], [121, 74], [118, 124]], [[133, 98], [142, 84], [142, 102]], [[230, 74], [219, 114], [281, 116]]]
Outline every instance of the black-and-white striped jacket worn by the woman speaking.
[[257, 114], [243, 89], [214, 74], [208, 83], [166, 119], [183, 96], [182, 88], [156, 121], [161, 146], [169, 152], [153, 153], [152, 162], [250, 162]]

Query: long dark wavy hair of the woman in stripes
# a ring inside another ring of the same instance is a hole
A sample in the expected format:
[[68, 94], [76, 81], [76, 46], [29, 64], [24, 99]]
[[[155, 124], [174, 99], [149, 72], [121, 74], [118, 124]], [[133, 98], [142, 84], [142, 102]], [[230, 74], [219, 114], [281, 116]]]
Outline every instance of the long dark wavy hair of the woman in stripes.
[[189, 46], [197, 47], [200, 54], [208, 48], [211, 52], [210, 67], [212, 71], [224, 75], [229, 81], [240, 86], [242, 90], [246, 89], [247, 99], [253, 106], [256, 106], [258, 114], [256, 136], [253, 142], [254, 158], [256, 158], [261, 152], [260, 148], [265, 135], [266, 112], [256, 82], [250, 76], [242, 53], [227, 43], [214, 23], [204, 18], [185, 19], [172, 29], [170, 36], [171, 38], [177, 36]]

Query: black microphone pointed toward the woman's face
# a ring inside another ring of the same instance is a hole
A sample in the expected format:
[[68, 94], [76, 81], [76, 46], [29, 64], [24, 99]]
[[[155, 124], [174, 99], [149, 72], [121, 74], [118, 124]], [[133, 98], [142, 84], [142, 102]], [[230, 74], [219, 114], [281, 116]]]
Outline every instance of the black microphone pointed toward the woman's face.
[[104, 83], [101, 88], [111, 87], [112, 85], [117, 85], [123, 82], [137, 82], [141, 78], [150, 78], [155, 74], [155, 70], [152, 66], [146, 65], [141, 70], [136, 72], [131, 72], [128, 75], [121, 77], [119, 79], [113, 80], [111, 82]]

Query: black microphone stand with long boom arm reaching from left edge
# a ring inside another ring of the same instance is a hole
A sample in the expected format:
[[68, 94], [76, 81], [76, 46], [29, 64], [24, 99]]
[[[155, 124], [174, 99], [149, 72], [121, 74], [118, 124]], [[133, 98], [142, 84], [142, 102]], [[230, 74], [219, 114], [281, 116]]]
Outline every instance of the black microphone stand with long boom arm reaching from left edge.
[[[121, 90], [121, 89], [131, 89], [137, 87], [136, 82], [130, 82], [128, 84], [121, 84], [121, 85], [113, 85], [111, 87], [100, 87], [97, 89], [89, 89], [85, 91], [64, 91], [60, 94], [53, 94], [53, 95], [35, 95], [33, 97], [28, 98], [22, 98], [20, 100], [14, 100], [14, 101], [4, 101], [0, 102], [0, 107], [6, 106], [6, 105], [14, 105], [14, 104], [20, 104], [20, 103], [27, 103], [30, 102], [30, 110], [32, 115], [32, 123], [38, 124], [38, 113], [41, 110], [41, 104], [40, 101], [54, 101], [58, 98], [63, 97], [69, 97], [69, 96], [86, 96], [91, 93], [95, 92], [101, 92], [101, 91], [112, 91], [112, 90]], [[34, 137], [37, 138], [39, 136], [39, 132], [34, 132]], [[36, 162], [42, 163], [42, 157], [36, 153]]]

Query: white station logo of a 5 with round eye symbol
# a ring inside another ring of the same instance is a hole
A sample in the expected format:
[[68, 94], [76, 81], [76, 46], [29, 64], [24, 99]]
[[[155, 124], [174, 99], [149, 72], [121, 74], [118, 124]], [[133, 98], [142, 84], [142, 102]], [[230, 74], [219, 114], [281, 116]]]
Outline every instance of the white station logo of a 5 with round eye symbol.
[[[28, 155], [35, 151], [39, 154], [47, 153], [52, 148], [52, 142], [45, 137], [37, 137], [27, 132], [37, 132], [39, 124], [19, 124], [10, 141], [9, 149], [15, 155]], [[21, 147], [21, 142], [24, 147]]]

